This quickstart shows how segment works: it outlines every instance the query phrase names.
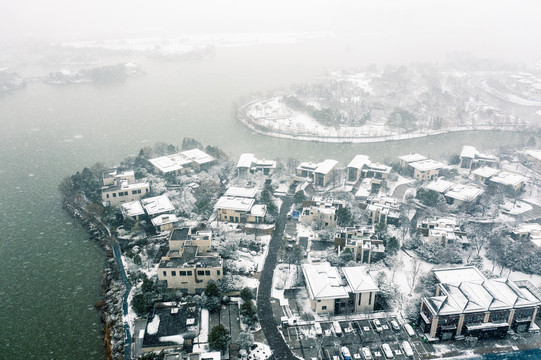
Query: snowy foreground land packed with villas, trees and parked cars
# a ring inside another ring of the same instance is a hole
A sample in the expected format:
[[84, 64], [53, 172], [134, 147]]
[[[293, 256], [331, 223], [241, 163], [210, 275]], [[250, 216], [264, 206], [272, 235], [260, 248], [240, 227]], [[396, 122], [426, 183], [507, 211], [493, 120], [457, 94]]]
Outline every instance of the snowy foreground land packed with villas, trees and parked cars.
[[231, 160], [186, 138], [60, 184], [105, 249], [108, 359], [539, 347], [541, 150]]

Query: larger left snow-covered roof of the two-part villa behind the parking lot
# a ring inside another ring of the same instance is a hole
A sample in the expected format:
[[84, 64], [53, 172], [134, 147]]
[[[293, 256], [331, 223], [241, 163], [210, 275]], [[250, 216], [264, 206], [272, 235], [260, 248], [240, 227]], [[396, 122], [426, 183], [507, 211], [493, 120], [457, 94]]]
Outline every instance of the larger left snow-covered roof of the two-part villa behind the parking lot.
[[318, 265], [303, 264], [306, 289], [312, 300], [346, 299], [349, 286], [342, 280], [338, 269], [325, 262]]

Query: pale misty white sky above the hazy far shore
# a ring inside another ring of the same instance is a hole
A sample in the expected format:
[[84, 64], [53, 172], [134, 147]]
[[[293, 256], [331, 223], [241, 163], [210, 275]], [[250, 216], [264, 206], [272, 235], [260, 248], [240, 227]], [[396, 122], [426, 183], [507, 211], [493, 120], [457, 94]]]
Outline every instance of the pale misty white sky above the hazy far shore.
[[537, 0], [3, 0], [0, 38], [330, 31], [409, 52], [471, 51], [532, 60], [541, 57], [540, 14]]

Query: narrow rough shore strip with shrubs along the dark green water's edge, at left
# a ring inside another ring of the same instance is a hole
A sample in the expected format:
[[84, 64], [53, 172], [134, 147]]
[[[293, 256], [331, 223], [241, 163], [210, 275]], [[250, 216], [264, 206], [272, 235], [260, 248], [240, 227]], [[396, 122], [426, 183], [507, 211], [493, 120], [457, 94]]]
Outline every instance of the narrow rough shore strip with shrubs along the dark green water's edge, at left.
[[126, 287], [120, 279], [118, 266], [113, 255], [109, 229], [85, 209], [69, 199], [64, 199], [63, 208], [88, 230], [90, 238], [104, 250], [106, 263], [101, 283], [101, 297], [95, 307], [101, 311], [103, 324], [104, 353], [107, 360], [124, 358], [124, 327], [122, 319], [122, 297]]

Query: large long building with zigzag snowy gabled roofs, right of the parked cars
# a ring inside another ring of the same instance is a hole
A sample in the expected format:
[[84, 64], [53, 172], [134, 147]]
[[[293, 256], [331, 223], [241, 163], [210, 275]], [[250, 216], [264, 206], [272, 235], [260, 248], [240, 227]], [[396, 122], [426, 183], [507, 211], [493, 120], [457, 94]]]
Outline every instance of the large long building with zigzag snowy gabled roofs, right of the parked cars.
[[431, 340], [504, 337], [538, 329], [541, 292], [530, 281], [487, 279], [473, 266], [433, 270], [436, 295], [423, 298], [419, 325]]

